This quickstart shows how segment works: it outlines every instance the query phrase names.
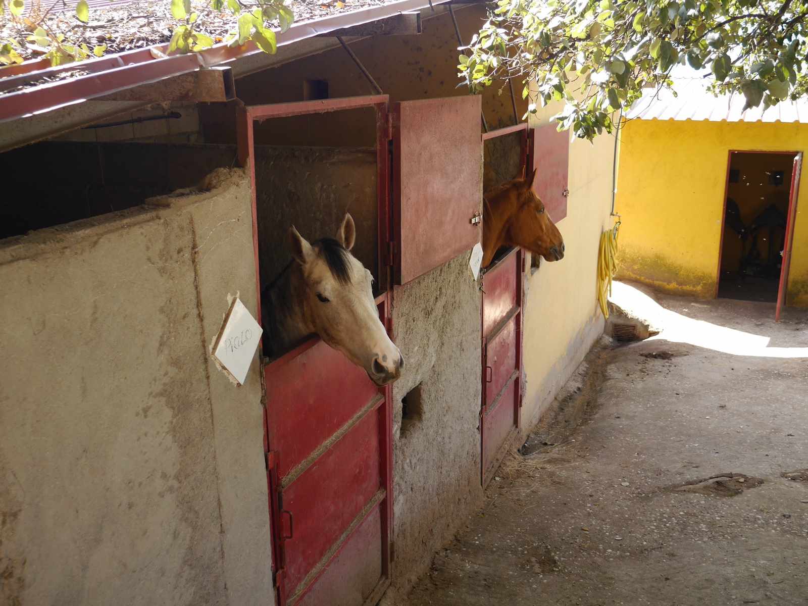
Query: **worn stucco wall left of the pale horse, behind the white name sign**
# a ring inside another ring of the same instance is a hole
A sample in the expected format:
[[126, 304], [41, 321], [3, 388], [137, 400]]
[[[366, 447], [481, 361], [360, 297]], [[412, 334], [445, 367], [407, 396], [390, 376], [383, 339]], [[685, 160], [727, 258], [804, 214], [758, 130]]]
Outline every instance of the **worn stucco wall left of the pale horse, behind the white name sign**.
[[271, 603], [249, 182], [0, 245], [2, 604]]

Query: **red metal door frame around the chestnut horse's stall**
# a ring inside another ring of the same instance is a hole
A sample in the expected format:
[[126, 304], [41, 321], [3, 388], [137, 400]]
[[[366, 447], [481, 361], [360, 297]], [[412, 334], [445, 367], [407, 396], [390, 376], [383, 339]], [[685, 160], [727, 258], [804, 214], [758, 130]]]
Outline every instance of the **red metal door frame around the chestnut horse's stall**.
[[[494, 139], [496, 137], [504, 137], [510, 135], [512, 133], [522, 133], [521, 141], [520, 141], [520, 162], [522, 164], [522, 171], [521, 176], [527, 174], [528, 163], [530, 160], [528, 159], [529, 153], [528, 149], [532, 148], [532, 145], [529, 143], [532, 141], [532, 137], [534, 136], [535, 129], [529, 128], [529, 124], [527, 122], [523, 122], [520, 124], [515, 124], [513, 126], [506, 126], [505, 128], [498, 128], [493, 131], [489, 131], [488, 133], [482, 133], [482, 141], [488, 141], [489, 139]], [[482, 270], [480, 280], [483, 279], [487, 271], [493, 270], [495, 267], [499, 265], [499, 263], [507, 262], [507, 259], [511, 255], [518, 255], [517, 267], [519, 268], [519, 283], [516, 285], [516, 309], [518, 311], [516, 314], [519, 315], [518, 322], [516, 322], [516, 368], [519, 370], [519, 376], [517, 377], [518, 385], [516, 386], [516, 427], [512, 435], [507, 436], [507, 438], [503, 442], [507, 444], [510, 440], [513, 440], [514, 437], [518, 434], [520, 428], [522, 427], [522, 399], [524, 397], [524, 393], [522, 393], [522, 378], [524, 377], [524, 272], [525, 272], [525, 259], [526, 255], [524, 250], [511, 250], [504, 255], [502, 259], [499, 259], [497, 263], [494, 265], [487, 267]], [[480, 483], [482, 487], [486, 487], [486, 461], [485, 461], [485, 414], [486, 414], [486, 404], [490, 404], [492, 402], [486, 402], [486, 384], [488, 382], [487, 378], [487, 359], [486, 359], [486, 347], [488, 345], [488, 341], [491, 337], [499, 334], [499, 331], [494, 331], [491, 335], [485, 334], [485, 309], [483, 305], [483, 299], [485, 298], [485, 290], [481, 289], [481, 305], [480, 305], [480, 329], [481, 329], [481, 336], [482, 336], [482, 347], [480, 351], [480, 368], [481, 368], [481, 406], [480, 406], [480, 416], [479, 416], [479, 425], [478, 429], [480, 431]], [[490, 480], [490, 478], [487, 478]]]

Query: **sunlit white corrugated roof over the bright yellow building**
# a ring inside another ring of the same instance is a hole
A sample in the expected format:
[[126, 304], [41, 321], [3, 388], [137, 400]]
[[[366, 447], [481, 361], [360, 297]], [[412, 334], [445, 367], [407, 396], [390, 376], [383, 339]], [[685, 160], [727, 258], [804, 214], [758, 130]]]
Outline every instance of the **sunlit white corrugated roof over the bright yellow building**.
[[714, 97], [704, 78], [674, 81], [671, 90], [646, 90], [625, 116], [639, 120], [709, 120], [710, 122], [802, 122], [808, 124], [808, 99], [784, 101], [765, 112], [763, 105], [743, 111], [743, 95]]

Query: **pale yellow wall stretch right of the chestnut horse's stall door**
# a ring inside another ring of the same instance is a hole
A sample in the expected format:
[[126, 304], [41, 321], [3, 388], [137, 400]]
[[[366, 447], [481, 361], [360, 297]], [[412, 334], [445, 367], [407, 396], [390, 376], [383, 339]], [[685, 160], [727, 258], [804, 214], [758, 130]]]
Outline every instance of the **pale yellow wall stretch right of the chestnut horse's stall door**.
[[[548, 124], [559, 109], [541, 109], [532, 125]], [[566, 246], [564, 259], [554, 263], [542, 259], [537, 270], [528, 268], [523, 431], [532, 429], [603, 333], [596, 271], [600, 234], [611, 225], [613, 157], [614, 138], [608, 134], [596, 137], [594, 143], [570, 142], [567, 215], [557, 224]]]

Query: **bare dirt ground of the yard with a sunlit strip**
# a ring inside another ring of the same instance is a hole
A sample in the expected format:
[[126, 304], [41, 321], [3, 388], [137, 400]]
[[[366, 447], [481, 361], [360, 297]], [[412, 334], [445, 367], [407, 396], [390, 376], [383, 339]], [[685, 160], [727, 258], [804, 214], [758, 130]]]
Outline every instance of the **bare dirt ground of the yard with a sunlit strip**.
[[604, 338], [408, 606], [808, 604], [808, 310], [620, 289], [662, 332]]

